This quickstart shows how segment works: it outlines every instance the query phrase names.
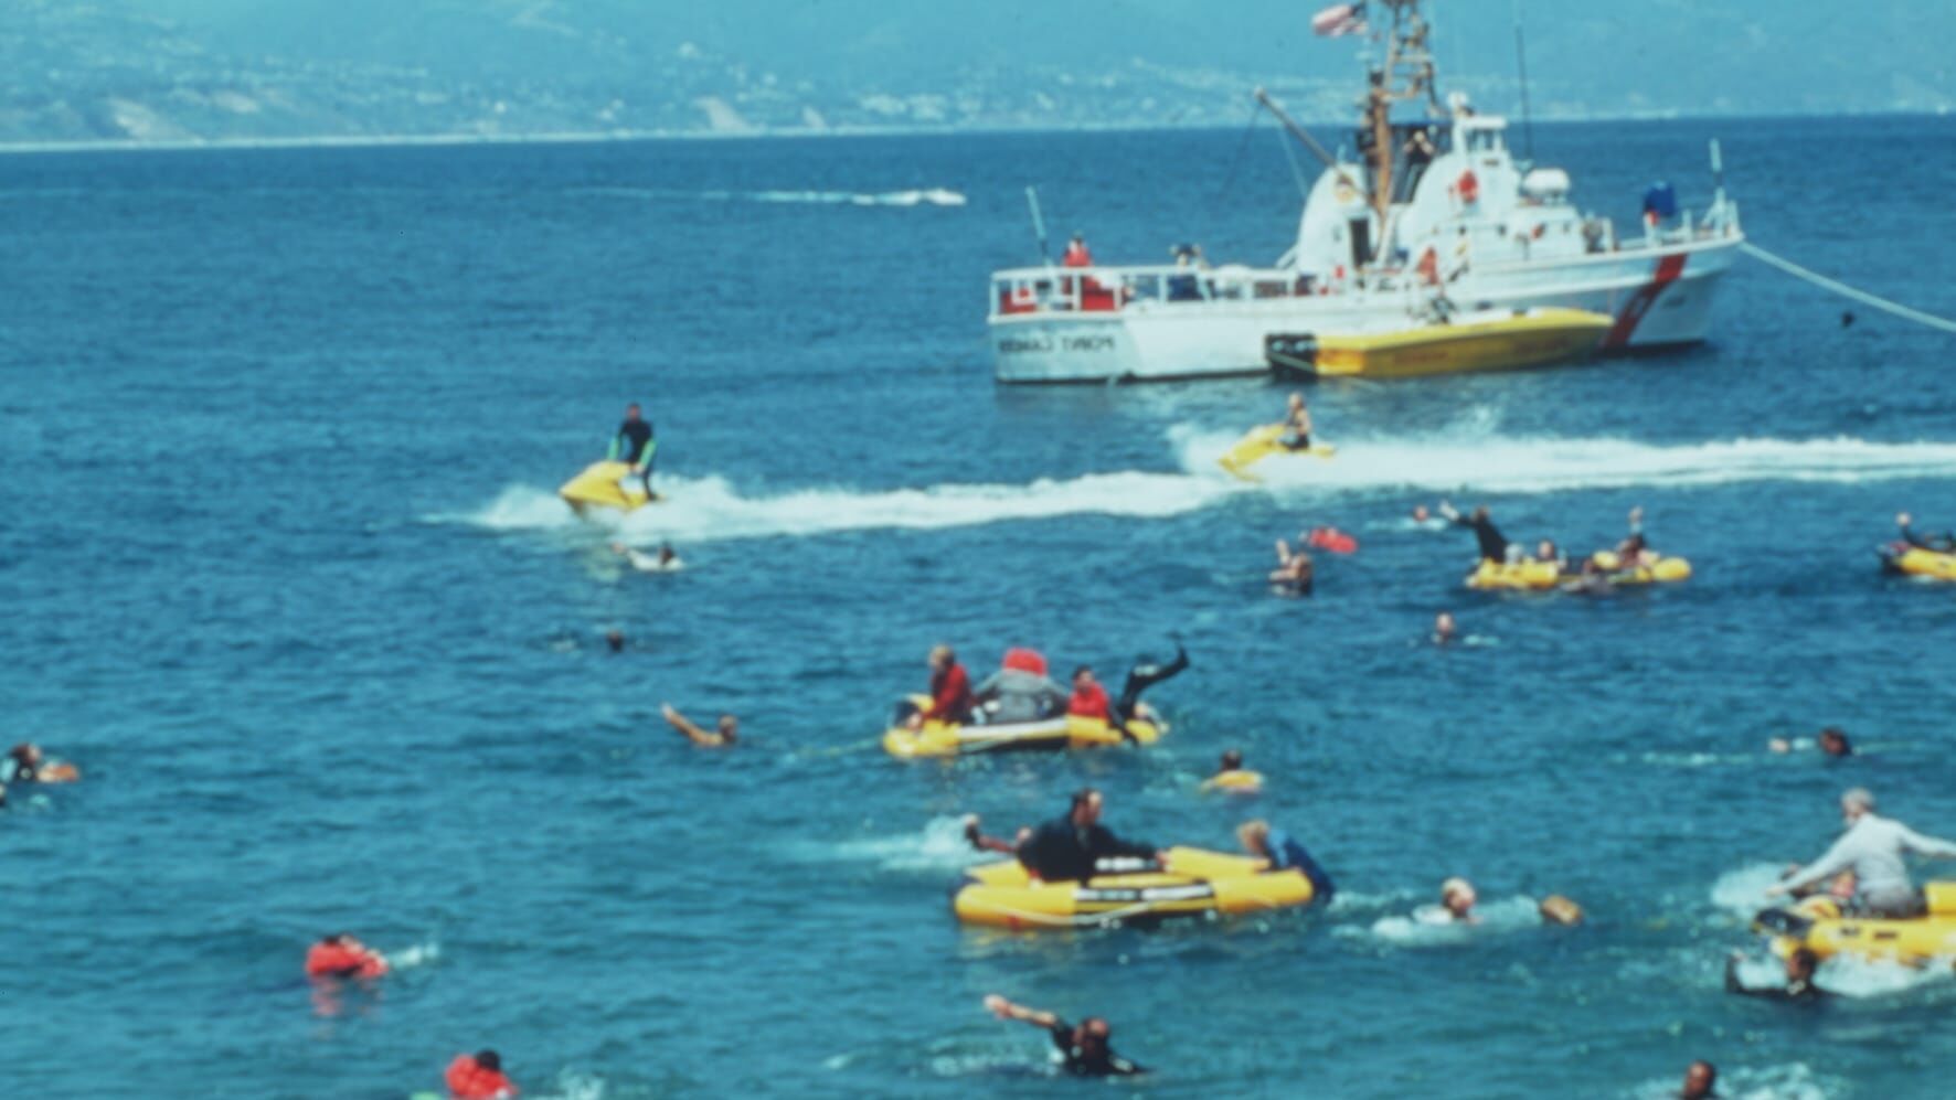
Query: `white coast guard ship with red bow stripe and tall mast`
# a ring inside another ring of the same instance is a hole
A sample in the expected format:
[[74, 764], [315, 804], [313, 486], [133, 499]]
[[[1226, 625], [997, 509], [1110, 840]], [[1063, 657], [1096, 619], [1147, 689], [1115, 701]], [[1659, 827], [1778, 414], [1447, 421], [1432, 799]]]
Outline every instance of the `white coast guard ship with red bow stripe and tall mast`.
[[[1436, 295], [1469, 311], [1604, 313], [1616, 318], [1606, 352], [1704, 340], [1717, 279], [1745, 240], [1723, 186], [1702, 217], [1678, 211], [1668, 186], [1653, 188], [1643, 233], [1618, 236], [1612, 221], [1569, 201], [1567, 172], [1516, 162], [1506, 119], [1459, 94], [1442, 106], [1418, 6], [1346, 6], [1379, 16], [1373, 41], [1383, 51], [1356, 135], [1359, 160], [1326, 154], [1258, 92], [1326, 164], [1297, 242], [1273, 266], [994, 272], [998, 379], [1252, 375], [1267, 369], [1267, 336], [1399, 330]], [[1395, 121], [1395, 104], [1418, 104], [1420, 117]]]

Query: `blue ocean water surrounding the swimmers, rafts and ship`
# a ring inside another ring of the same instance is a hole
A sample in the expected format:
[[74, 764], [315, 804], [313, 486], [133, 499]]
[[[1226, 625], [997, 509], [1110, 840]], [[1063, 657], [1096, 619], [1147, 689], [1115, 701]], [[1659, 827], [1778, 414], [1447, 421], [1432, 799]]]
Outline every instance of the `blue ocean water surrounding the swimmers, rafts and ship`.
[[[1700, 348], [1320, 385], [1336, 469], [1262, 488], [1211, 459], [1267, 383], [996, 389], [1023, 186], [1103, 260], [1269, 260], [1295, 188], [1240, 137], [0, 160], [6, 740], [86, 772], [0, 813], [0, 1092], [405, 1096], [483, 1045], [528, 1096], [1091, 1088], [996, 991], [1111, 1018], [1150, 1096], [1661, 1096], [1696, 1057], [1731, 1096], [1946, 1094], [1946, 969], [1823, 973], [1819, 1010], [1719, 969], [1843, 785], [1956, 832], [1956, 590], [1870, 553], [1897, 508], [1956, 526], [1956, 344], [1741, 262]], [[1655, 178], [1704, 205], [1710, 137], [1758, 244], [1956, 315], [1950, 119], [1535, 148], [1627, 221]], [[552, 490], [632, 399], [673, 502], [581, 524]], [[1696, 576], [1469, 594], [1471, 539], [1404, 520], [1440, 496], [1577, 549], [1643, 504]], [[1273, 598], [1271, 541], [1314, 524], [1359, 553]], [[1440, 610], [1475, 645], [1422, 645]], [[1172, 635], [1195, 666], [1152, 750], [876, 746], [937, 641], [1117, 678]], [[667, 699], [743, 742], [690, 748]], [[1864, 754], [1764, 750], [1829, 723]], [[1195, 791], [1228, 746], [1254, 803]], [[1158, 842], [1267, 817], [1344, 893], [958, 928], [956, 815], [1007, 830], [1082, 783]], [[1402, 920], [1445, 875], [1487, 928]], [[1543, 893], [1590, 922], [1534, 926]], [[340, 928], [407, 965], [315, 993]]]

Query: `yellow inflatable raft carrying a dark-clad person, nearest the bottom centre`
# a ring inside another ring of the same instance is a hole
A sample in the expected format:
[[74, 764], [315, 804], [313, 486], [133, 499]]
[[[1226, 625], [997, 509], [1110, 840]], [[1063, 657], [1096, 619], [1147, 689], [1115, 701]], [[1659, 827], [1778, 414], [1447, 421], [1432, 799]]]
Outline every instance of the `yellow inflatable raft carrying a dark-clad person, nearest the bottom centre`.
[[1084, 928], [1170, 916], [1228, 916], [1311, 905], [1316, 895], [1301, 869], [1271, 871], [1266, 860], [1170, 848], [1168, 860], [1129, 860], [1136, 869], [1084, 883], [1035, 881], [1017, 860], [972, 867], [951, 899], [964, 924], [996, 928]]

